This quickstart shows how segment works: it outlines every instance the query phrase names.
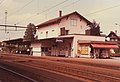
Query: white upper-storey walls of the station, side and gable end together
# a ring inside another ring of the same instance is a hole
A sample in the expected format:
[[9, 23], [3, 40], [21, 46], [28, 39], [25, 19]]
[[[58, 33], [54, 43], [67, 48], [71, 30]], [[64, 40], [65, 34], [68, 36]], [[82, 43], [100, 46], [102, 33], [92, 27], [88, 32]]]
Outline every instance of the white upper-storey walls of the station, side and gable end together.
[[[71, 25], [71, 19], [77, 20], [75, 26]], [[38, 39], [58, 37], [60, 35], [60, 28], [63, 27], [65, 27], [65, 30], [69, 30], [68, 34], [85, 34], [85, 30], [89, 28], [85, 20], [80, 19], [78, 15], [73, 14], [68, 18], [65, 17], [61, 19], [59, 24], [39, 28], [36, 35], [38, 36]], [[48, 32], [48, 34], [46, 34], [46, 32]]]

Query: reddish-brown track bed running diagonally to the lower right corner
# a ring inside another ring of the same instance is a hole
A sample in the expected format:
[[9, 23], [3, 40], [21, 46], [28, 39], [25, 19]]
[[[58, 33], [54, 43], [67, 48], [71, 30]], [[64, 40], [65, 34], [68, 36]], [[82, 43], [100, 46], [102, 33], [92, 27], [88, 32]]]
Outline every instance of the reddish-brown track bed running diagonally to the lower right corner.
[[[23, 61], [22, 61], [23, 62]], [[34, 68], [37, 68], [37, 69], [48, 69], [48, 70], [52, 70], [52, 71], [56, 71], [56, 72], [60, 72], [60, 73], [64, 73], [64, 74], [68, 74], [68, 75], [71, 75], [71, 76], [75, 76], [75, 77], [78, 77], [78, 78], [84, 78], [86, 80], [89, 80], [90, 81], [94, 81], [94, 82], [119, 82], [120, 81], [120, 77], [114, 77], [114, 76], [111, 76], [111, 75], [105, 75], [105, 74], [98, 74], [98, 73], [95, 73], [95, 72], [90, 72], [88, 70], [81, 70], [81, 69], [78, 69], [78, 68], [75, 68], [75, 67], [71, 67], [69, 65], [63, 65], [63, 64], [58, 64], [58, 63], [52, 63], [52, 62], [46, 62], [46, 61], [41, 61], [39, 63], [33, 63], [33, 62], [30, 62], [30, 63], [27, 63], [27, 62], [24, 62], [24, 63], [21, 63], [19, 61], [20, 64], [24, 64], [24, 65], [27, 65], [27, 66], [30, 66], [30, 67], [34, 67]]]

